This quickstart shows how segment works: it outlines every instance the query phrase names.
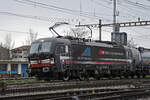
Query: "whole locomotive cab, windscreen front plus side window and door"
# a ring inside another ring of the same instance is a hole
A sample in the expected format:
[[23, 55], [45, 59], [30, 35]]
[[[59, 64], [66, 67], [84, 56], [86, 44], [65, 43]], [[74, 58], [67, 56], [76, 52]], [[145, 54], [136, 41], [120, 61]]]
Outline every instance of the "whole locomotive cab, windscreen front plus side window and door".
[[61, 59], [70, 55], [68, 44], [66, 39], [62, 41], [59, 38], [45, 38], [33, 42], [28, 56], [29, 75], [44, 80], [59, 78], [60, 73], [65, 71]]

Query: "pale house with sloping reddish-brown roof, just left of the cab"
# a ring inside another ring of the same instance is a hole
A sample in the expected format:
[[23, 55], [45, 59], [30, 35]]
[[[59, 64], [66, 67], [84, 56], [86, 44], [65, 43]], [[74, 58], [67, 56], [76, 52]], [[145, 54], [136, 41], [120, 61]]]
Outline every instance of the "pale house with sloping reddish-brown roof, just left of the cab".
[[11, 50], [11, 58], [13, 61], [27, 61], [30, 46], [25, 45]]

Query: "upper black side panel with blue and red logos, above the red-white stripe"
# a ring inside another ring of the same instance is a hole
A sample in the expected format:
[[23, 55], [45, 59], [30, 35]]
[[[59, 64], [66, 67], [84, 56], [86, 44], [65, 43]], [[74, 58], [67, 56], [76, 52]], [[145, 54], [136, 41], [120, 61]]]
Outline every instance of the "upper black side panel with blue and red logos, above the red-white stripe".
[[110, 60], [127, 62], [124, 48], [108, 48], [92, 45], [72, 45], [72, 58], [74, 60]]

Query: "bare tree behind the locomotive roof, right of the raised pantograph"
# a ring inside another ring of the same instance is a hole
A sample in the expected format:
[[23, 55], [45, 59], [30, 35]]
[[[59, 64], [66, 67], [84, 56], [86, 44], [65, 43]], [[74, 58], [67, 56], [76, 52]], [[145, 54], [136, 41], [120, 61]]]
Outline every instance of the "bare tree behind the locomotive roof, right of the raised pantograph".
[[68, 36], [74, 36], [76, 38], [89, 38], [89, 31], [83, 28], [71, 28], [66, 33]]

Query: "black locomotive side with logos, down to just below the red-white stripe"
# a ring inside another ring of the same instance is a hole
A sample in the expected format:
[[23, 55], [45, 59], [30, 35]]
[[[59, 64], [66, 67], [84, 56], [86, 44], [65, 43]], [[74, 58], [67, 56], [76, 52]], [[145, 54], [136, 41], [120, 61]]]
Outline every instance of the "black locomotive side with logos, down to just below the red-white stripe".
[[[116, 69], [119, 67], [127, 67], [131, 60], [126, 57], [123, 47], [101, 47], [93, 45], [72, 45], [72, 63], [77, 65], [104, 66]], [[119, 68], [118, 68], [119, 69]]]

